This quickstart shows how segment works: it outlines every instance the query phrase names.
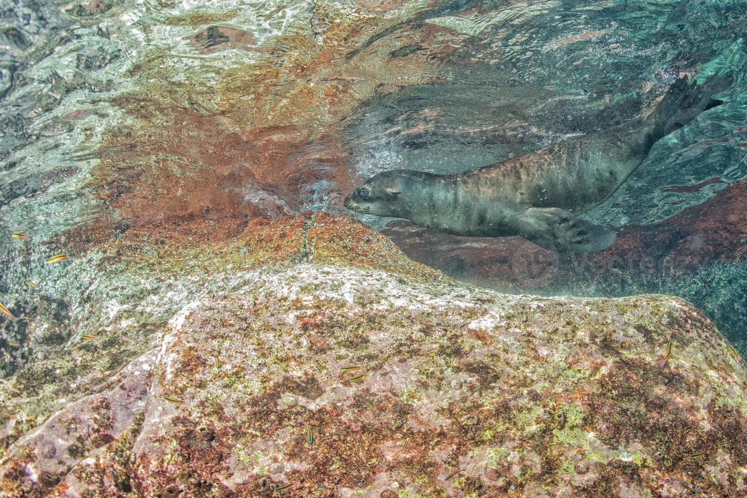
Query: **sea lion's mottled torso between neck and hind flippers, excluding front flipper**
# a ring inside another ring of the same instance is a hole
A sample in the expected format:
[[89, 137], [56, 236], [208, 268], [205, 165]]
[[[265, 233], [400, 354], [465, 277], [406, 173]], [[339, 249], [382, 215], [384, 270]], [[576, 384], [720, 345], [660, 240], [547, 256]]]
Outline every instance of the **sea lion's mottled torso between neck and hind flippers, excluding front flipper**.
[[560, 208], [571, 214], [595, 208], [645, 160], [644, 142], [639, 130], [616, 127], [594, 140], [574, 137], [459, 173], [462, 234], [490, 236], [485, 220], [505, 224], [507, 217], [527, 208]]

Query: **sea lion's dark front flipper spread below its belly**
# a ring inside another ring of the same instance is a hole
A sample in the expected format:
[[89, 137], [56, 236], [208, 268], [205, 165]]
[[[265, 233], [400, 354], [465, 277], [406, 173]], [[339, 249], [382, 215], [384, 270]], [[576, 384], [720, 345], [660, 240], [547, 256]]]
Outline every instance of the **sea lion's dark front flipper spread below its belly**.
[[518, 234], [538, 246], [557, 252], [592, 252], [607, 249], [616, 234], [559, 208], [528, 208], [518, 214]]

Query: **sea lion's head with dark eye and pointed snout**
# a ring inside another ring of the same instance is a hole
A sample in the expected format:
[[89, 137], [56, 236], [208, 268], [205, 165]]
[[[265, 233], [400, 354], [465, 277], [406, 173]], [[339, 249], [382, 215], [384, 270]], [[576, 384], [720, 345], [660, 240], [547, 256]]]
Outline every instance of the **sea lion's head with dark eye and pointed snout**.
[[402, 196], [408, 184], [406, 173], [403, 169], [393, 169], [373, 175], [345, 198], [345, 207], [361, 214], [405, 217]]

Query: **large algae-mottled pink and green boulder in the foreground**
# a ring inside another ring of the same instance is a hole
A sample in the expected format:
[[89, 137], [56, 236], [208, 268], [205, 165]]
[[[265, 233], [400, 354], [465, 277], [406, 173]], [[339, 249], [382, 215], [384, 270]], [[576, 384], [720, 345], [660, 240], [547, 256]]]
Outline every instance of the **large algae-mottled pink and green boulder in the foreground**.
[[4, 496], [745, 492], [747, 370], [680, 299], [509, 296], [324, 214], [226, 254], [252, 284], [196, 299], [157, 353], [16, 441]]

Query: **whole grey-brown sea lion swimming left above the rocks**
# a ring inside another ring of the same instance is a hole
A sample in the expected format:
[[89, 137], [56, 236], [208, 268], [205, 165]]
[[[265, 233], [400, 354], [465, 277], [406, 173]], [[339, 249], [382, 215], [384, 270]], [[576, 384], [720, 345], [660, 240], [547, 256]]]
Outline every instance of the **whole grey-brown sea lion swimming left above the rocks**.
[[449, 234], [521, 235], [558, 252], [600, 251], [616, 234], [581, 220], [612, 196], [661, 137], [721, 104], [716, 85], [683, 77], [648, 117], [454, 175], [394, 169], [368, 178], [346, 208]]

